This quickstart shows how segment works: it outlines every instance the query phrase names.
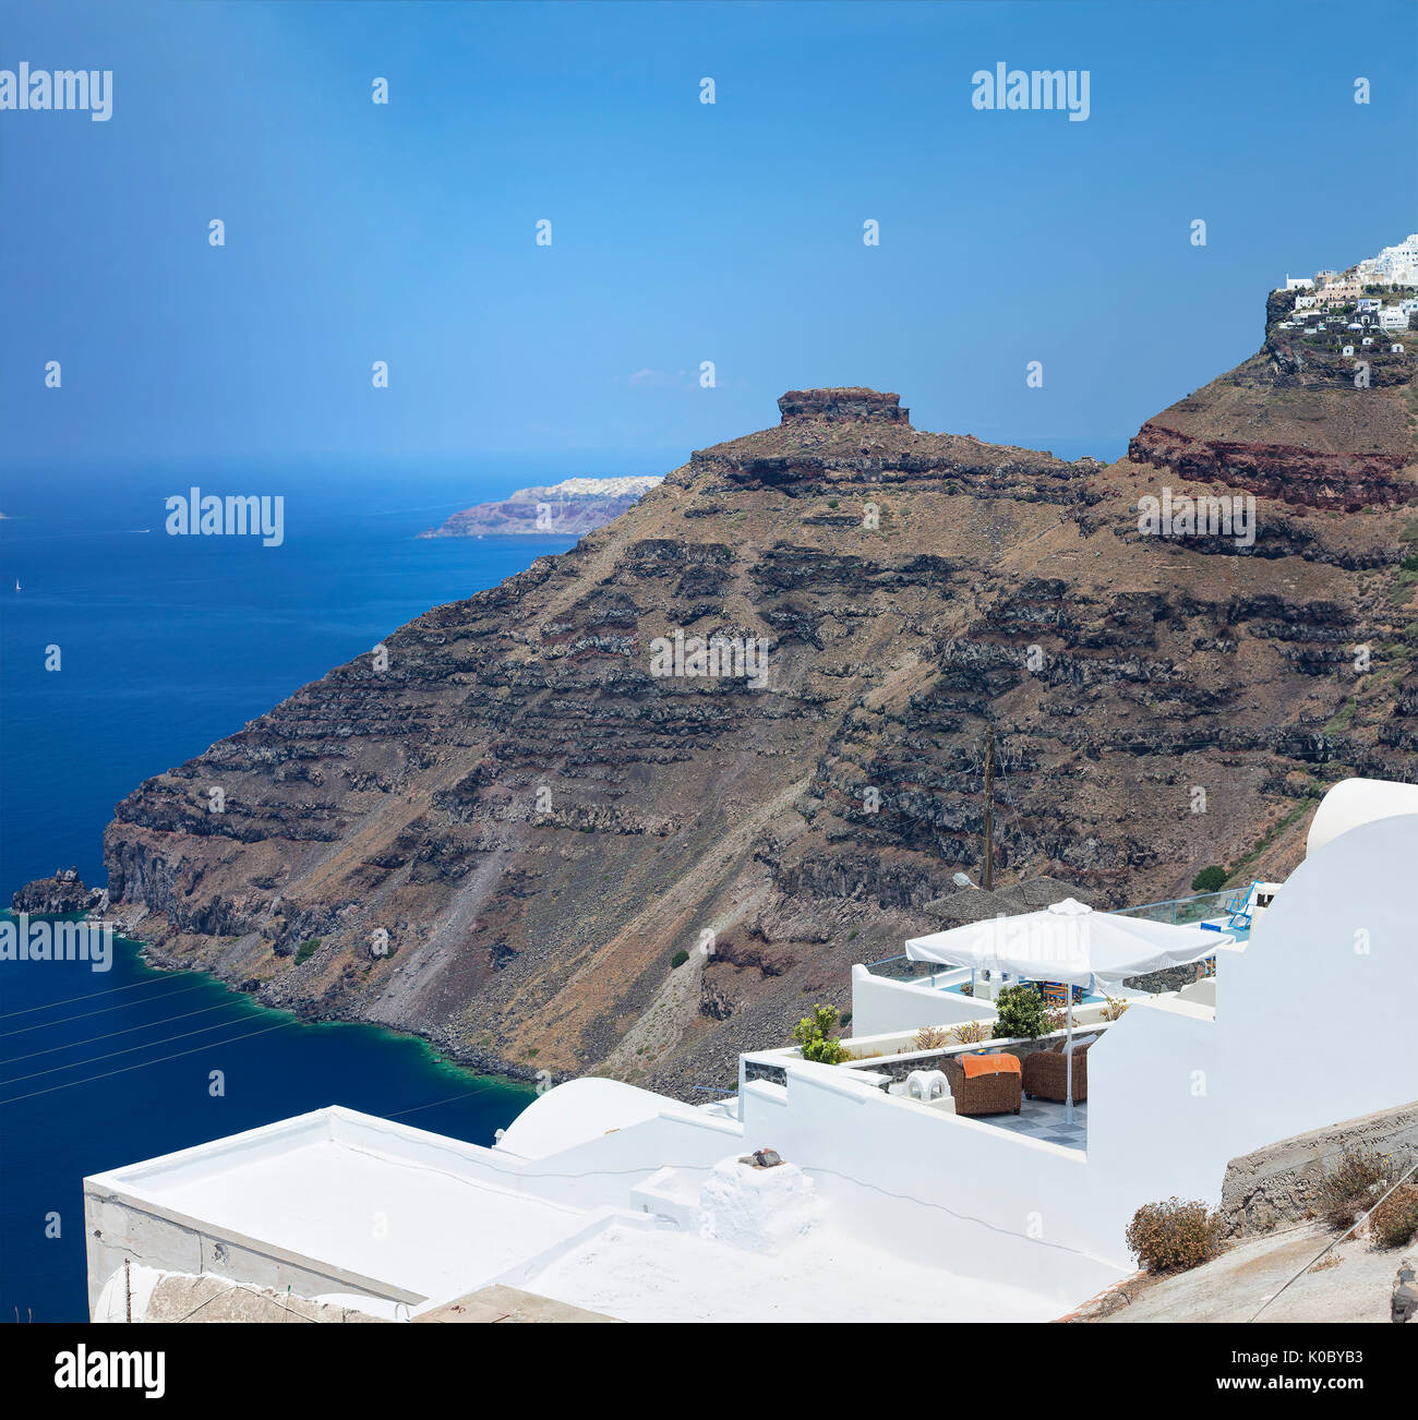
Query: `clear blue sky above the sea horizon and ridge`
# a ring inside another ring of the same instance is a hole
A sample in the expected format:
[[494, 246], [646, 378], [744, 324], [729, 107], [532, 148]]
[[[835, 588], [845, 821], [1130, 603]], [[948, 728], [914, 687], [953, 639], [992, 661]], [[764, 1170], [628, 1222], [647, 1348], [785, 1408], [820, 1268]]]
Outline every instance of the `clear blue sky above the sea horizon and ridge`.
[[[1411, 3], [0, 4], [0, 68], [114, 71], [107, 124], [0, 112], [0, 439], [655, 466], [865, 383], [1117, 449], [1287, 271], [1418, 227], [1414, 40]], [[1088, 70], [1088, 121], [976, 111], [996, 61]]]

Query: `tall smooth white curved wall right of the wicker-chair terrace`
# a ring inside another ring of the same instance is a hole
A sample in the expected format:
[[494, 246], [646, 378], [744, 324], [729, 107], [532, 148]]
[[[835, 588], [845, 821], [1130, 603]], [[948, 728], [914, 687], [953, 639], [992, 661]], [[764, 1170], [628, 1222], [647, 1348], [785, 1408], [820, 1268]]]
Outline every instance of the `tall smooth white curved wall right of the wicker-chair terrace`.
[[1418, 1099], [1415, 865], [1414, 815], [1333, 839], [1226, 961], [1215, 1025], [1135, 1007], [1090, 1052], [1088, 1157], [1132, 1180], [1120, 1210], [1216, 1203], [1238, 1154]]

